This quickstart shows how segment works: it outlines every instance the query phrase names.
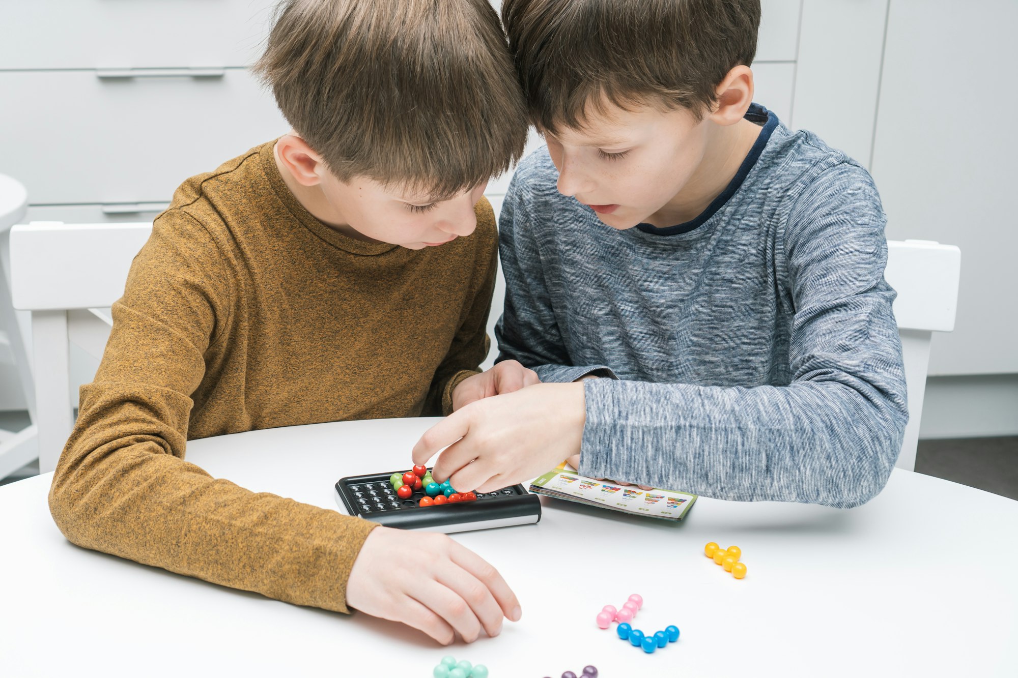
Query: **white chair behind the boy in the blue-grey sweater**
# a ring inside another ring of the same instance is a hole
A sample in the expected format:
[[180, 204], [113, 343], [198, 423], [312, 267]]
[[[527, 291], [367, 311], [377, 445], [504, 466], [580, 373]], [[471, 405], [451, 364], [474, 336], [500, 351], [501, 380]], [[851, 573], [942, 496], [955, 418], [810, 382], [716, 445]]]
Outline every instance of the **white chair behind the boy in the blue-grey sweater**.
[[915, 468], [929, 345], [934, 332], [954, 330], [960, 275], [961, 250], [954, 245], [931, 240], [888, 240], [884, 277], [898, 292], [894, 315], [908, 384], [909, 419], [898, 457], [899, 468]]

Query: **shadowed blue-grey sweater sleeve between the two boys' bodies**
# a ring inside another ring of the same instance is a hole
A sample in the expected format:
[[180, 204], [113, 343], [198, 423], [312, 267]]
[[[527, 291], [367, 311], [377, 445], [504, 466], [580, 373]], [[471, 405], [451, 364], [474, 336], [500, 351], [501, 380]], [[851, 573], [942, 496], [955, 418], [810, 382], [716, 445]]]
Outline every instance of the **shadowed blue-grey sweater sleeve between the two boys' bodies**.
[[506, 298], [502, 318], [495, 326], [497, 361], [518, 360], [538, 373], [542, 382], [573, 382], [586, 375], [614, 379], [615, 374], [607, 365], [572, 364], [515, 176], [502, 204], [499, 225]]

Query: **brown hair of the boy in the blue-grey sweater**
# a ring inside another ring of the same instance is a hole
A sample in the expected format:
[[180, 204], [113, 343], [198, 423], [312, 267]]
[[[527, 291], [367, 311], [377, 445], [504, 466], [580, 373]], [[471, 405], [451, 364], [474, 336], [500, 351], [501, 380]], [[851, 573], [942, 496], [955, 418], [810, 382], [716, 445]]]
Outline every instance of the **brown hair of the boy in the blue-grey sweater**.
[[686, 108], [756, 53], [759, 0], [504, 0], [502, 19], [530, 119], [579, 128], [608, 103]]

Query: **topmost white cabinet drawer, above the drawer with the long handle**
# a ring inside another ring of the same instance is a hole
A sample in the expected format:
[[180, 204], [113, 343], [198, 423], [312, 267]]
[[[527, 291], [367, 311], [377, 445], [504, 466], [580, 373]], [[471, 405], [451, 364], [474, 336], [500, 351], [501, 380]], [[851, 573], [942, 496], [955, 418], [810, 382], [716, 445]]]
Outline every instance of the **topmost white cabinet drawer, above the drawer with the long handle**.
[[262, 50], [273, 0], [3, 3], [0, 69], [242, 66]]

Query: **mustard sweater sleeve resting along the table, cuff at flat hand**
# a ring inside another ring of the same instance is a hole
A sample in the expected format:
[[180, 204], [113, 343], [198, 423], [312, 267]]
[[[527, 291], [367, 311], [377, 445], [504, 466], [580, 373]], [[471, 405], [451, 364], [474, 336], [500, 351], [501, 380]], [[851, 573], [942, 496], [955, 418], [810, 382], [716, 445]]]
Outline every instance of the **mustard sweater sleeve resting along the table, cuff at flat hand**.
[[228, 337], [234, 290], [215, 241], [171, 210], [135, 258], [96, 380], [53, 476], [72, 543], [298, 605], [347, 612], [359, 518], [214, 478], [184, 460], [190, 395]]

